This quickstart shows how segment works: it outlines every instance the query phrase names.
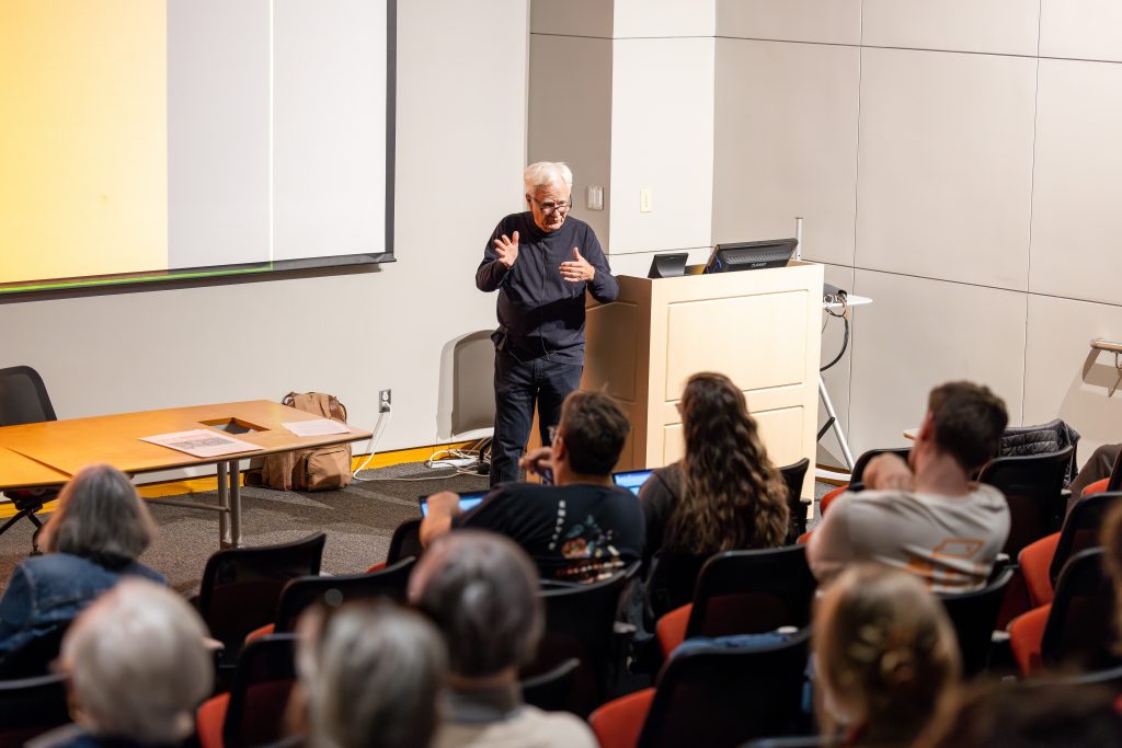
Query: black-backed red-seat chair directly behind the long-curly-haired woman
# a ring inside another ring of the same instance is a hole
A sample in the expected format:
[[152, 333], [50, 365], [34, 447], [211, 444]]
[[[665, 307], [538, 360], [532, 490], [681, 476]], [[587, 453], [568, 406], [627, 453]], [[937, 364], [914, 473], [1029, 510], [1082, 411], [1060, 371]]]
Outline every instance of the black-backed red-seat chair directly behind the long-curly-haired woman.
[[810, 622], [817, 583], [804, 545], [727, 551], [701, 567], [693, 602], [659, 619], [655, 635], [663, 658], [683, 640], [733, 634], [764, 634]]

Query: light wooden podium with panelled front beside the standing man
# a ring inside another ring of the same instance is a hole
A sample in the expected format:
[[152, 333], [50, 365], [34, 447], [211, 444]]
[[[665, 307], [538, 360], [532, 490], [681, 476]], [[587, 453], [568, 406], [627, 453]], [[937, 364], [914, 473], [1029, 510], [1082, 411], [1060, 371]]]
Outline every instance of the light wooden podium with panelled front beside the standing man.
[[[822, 266], [680, 278], [619, 277], [619, 297], [587, 317], [582, 389], [627, 410], [632, 434], [616, 470], [659, 468], [682, 455], [678, 400], [696, 371], [744, 390], [776, 467], [809, 458], [818, 432]], [[803, 497], [813, 491], [807, 472]]]

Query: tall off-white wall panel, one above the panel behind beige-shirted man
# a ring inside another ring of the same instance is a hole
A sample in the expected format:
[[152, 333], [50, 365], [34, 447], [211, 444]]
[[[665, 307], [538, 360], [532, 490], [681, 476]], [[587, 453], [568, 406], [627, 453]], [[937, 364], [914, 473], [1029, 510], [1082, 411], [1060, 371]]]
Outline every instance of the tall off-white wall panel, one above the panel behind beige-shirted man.
[[858, 267], [1026, 288], [1036, 65], [862, 50]]

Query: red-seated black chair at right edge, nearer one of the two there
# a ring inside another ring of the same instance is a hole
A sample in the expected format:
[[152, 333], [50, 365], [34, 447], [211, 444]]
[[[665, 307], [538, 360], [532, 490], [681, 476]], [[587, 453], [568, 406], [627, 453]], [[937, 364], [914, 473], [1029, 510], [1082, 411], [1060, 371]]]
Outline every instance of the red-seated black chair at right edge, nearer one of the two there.
[[1009, 625], [1010, 646], [1022, 675], [1041, 665], [1102, 669], [1118, 664], [1111, 654], [1114, 593], [1103, 571], [1103, 553], [1091, 548], [1072, 556], [1056, 583], [1052, 603]]

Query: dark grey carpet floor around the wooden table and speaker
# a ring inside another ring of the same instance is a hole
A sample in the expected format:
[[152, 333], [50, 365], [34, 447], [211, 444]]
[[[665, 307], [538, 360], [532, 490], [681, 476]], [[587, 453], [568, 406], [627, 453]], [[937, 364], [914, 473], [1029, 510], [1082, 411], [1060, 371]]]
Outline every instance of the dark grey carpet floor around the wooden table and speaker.
[[[452, 470], [429, 470], [422, 463], [408, 463], [368, 470], [362, 478], [340, 491], [304, 493], [263, 488], [241, 489], [242, 541], [247, 546], [288, 543], [312, 533], [328, 534], [323, 552], [323, 572], [357, 574], [371, 564], [385, 561], [394, 528], [406, 519], [421, 516], [417, 497], [434, 491], [479, 491], [487, 478], [459, 474]], [[833, 488], [816, 484], [821, 497]], [[193, 501], [217, 504], [217, 492], [194, 493]], [[156, 541], [141, 561], [167, 576], [168, 583], [183, 593], [197, 591], [206, 558], [218, 545], [218, 515], [203, 509], [149, 505], [159, 526]], [[818, 506], [815, 505], [815, 519]], [[7, 585], [16, 564], [31, 547], [31, 523], [21, 520], [0, 535], [0, 589]]]

